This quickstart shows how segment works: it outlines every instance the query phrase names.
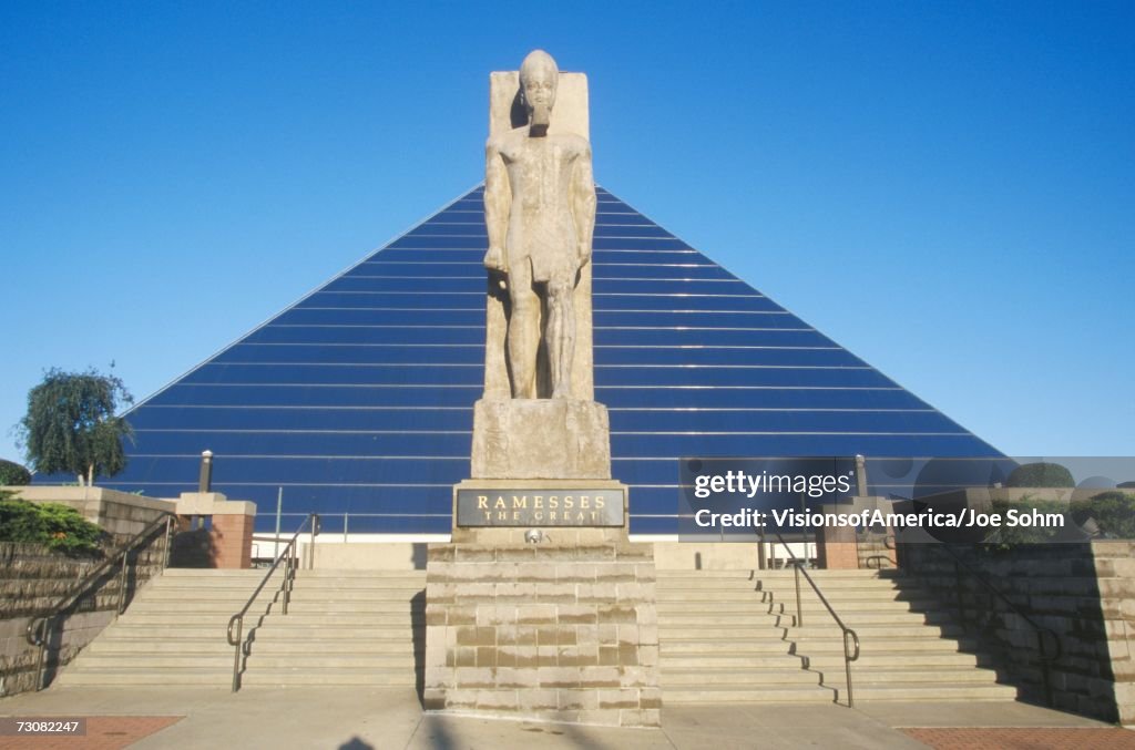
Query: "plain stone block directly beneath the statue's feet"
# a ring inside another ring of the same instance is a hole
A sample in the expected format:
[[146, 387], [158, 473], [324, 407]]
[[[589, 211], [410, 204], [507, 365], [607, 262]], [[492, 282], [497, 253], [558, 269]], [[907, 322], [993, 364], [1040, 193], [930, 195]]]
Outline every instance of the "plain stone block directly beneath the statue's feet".
[[569, 398], [482, 398], [473, 479], [609, 479], [607, 407]]

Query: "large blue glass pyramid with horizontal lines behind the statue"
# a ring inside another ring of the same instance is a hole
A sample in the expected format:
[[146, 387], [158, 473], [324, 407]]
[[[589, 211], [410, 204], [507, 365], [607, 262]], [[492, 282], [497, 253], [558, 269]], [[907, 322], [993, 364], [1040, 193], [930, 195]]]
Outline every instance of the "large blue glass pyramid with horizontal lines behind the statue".
[[[258, 530], [447, 533], [485, 361], [482, 187], [137, 404], [100, 482], [258, 504]], [[675, 533], [683, 456], [998, 456], [993, 447], [598, 189], [596, 399], [632, 533]]]

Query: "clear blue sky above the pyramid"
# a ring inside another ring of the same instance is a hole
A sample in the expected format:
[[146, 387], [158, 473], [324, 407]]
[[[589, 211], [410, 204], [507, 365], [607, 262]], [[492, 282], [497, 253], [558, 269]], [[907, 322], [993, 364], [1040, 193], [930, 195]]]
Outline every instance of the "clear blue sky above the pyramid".
[[1135, 3], [0, 5], [0, 457], [481, 179], [490, 70], [600, 184], [993, 445], [1135, 455]]

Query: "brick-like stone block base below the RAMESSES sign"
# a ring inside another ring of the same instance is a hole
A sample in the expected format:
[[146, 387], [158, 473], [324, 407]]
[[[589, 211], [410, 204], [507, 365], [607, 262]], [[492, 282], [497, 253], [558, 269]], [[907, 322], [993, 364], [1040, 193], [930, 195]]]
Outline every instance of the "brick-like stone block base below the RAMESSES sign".
[[654, 553], [617, 534], [430, 545], [426, 708], [658, 726]]

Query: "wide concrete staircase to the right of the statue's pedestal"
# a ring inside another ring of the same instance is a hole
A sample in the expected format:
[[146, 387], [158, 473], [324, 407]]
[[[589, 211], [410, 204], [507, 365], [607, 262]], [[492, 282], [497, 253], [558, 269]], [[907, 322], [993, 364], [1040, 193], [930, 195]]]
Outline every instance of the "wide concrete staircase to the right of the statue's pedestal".
[[[809, 571], [861, 654], [856, 701], [1012, 700], [950, 612], [893, 571]], [[667, 703], [847, 700], [842, 633], [793, 572], [658, 571]]]

